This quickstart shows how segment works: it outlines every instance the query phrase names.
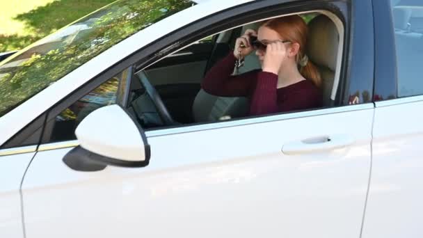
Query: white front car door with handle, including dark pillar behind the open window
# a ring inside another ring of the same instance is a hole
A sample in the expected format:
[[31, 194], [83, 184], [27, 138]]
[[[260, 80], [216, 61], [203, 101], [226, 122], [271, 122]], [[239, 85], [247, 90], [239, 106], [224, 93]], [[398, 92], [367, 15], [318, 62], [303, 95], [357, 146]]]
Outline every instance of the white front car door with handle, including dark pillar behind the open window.
[[[351, 35], [372, 32], [372, 6], [353, 8]], [[26, 237], [359, 237], [374, 104], [349, 98], [372, 88], [373, 38], [346, 36], [364, 47], [344, 51], [338, 107], [151, 130], [144, 168], [72, 170], [77, 141], [42, 143], [22, 183]]]

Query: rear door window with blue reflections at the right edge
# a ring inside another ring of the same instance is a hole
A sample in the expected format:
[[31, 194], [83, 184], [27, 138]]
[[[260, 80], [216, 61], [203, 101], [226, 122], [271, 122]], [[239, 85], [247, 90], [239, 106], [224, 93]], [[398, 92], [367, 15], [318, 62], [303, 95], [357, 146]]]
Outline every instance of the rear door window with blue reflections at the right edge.
[[423, 95], [423, 1], [391, 1], [398, 97]]

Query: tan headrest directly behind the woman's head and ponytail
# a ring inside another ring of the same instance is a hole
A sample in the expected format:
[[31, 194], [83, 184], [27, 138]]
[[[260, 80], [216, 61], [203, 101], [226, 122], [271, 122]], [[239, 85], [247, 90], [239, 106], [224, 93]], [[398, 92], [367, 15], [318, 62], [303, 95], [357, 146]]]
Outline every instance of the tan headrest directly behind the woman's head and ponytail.
[[340, 35], [335, 23], [326, 15], [314, 17], [308, 24], [308, 58], [335, 71]]

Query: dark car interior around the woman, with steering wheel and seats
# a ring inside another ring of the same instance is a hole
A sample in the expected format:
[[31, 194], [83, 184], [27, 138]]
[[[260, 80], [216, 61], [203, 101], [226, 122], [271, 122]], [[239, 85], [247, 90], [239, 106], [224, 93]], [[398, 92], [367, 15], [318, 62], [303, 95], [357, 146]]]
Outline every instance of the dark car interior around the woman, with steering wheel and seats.
[[[314, 15], [308, 23], [308, 56], [321, 73], [324, 106], [334, 106], [332, 95], [340, 35], [332, 19], [324, 14]], [[260, 22], [246, 24], [200, 40], [136, 72], [131, 81], [129, 111], [144, 129], [246, 117], [247, 98], [210, 95], [200, 84], [207, 70], [233, 49], [236, 38], [246, 29], [257, 31], [259, 26]], [[260, 68], [257, 56], [252, 53], [246, 56], [238, 73]]]

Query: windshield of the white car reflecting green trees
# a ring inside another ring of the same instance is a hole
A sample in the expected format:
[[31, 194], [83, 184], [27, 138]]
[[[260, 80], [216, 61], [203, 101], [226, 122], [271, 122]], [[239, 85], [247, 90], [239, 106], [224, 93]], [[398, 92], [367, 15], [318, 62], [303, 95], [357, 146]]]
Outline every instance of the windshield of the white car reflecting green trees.
[[116, 1], [35, 42], [0, 63], [0, 117], [102, 51], [192, 5], [188, 0]]

